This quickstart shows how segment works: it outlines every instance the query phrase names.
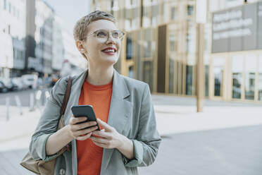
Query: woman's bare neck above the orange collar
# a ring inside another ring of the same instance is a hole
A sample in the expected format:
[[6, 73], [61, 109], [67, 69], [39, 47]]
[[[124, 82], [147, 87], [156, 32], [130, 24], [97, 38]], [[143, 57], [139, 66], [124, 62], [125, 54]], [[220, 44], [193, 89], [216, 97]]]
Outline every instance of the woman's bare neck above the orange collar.
[[88, 68], [86, 79], [92, 85], [106, 85], [113, 80], [113, 66], [110, 68]]

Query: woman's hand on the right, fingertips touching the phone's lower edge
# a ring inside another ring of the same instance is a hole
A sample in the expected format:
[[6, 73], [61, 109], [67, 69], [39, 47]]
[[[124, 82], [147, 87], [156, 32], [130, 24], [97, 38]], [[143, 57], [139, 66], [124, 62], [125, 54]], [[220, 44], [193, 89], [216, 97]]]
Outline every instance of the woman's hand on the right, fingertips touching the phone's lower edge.
[[[120, 148], [122, 145], [123, 135], [118, 133], [115, 128], [109, 126], [104, 121], [96, 119], [96, 122], [99, 126], [102, 126], [104, 129], [101, 131], [93, 131], [92, 136], [90, 137], [93, 143], [99, 147], [104, 148]], [[95, 137], [97, 135], [99, 137]]]

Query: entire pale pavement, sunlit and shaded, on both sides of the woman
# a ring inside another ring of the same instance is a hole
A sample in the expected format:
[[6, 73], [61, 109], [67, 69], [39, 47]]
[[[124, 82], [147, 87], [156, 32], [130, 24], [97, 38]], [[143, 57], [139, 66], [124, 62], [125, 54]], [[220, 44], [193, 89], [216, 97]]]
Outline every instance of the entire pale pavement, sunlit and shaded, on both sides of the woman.
[[[261, 104], [205, 100], [204, 111], [196, 113], [194, 98], [152, 98], [163, 142], [156, 162], [139, 168], [140, 174], [262, 174], [258, 167], [258, 160], [262, 162], [258, 141], [258, 135], [262, 136]], [[0, 172], [30, 174], [19, 162], [27, 152], [42, 111], [22, 107], [20, 115], [18, 107], [10, 107], [8, 121], [6, 107], [1, 105], [0, 111]]]

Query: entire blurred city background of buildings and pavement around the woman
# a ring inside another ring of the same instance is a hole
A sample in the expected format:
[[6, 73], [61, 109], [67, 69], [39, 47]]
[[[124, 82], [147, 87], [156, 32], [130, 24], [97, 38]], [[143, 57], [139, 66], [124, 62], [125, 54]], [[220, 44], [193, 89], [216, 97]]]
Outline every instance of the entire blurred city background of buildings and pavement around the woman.
[[28, 174], [51, 87], [87, 68], [73, 26], [95, 10], [126, 32], [116, 70], [151, 89], [163, 143], [141, 174], [262, 174], [258, 0], [0, 0], [0, 173]]

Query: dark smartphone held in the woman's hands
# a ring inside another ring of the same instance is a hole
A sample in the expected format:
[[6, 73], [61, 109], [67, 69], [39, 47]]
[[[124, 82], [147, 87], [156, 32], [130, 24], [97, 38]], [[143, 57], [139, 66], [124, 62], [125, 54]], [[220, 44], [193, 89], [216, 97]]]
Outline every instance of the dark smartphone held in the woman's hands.
[[[87, 121], [96, 121], [96, 115], [94, 114], [94, 109], [91, 105], [79, 105], [79, 106], [73, 106], [71, 107], [71, 110], [73, 112], [73, 115], [75, 117], [79, 117], [79, 116], [87, 116], [87, 120], [86, 121], [82, 121], [80, 123], [84, 123]], [[96, 123], [97, 129], [98, 131], [100, 131], [99, 125], [98, 123]], [[93, 126], [89, 126], [87, 128], [91, 128]], [[86, 129], [86, 128], [84, 128]]]

